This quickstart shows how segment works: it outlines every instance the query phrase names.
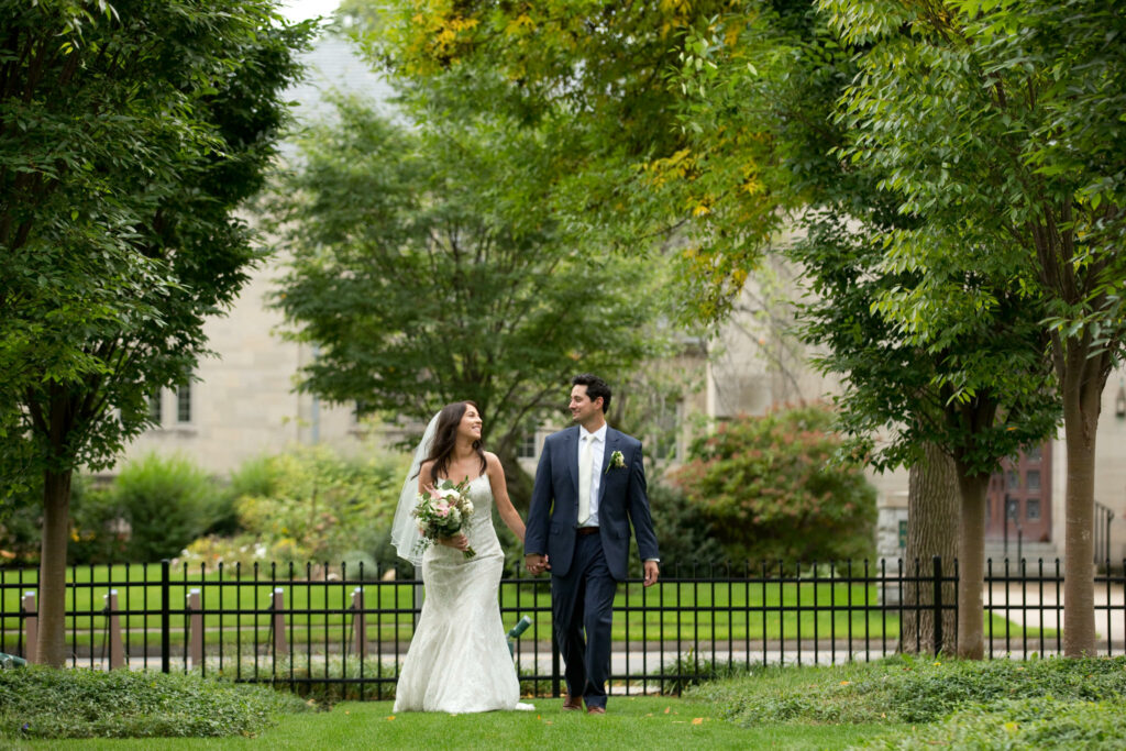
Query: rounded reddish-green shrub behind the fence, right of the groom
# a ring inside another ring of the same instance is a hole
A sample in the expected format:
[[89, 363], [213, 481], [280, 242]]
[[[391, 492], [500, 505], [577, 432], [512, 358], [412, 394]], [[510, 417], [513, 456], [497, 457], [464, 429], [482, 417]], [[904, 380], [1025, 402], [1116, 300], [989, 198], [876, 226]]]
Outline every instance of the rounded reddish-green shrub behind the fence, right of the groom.
[[820, 406], [741, 417], [692, 442], [673, 482], [742, 560], [860, 560], [874, 553], [876, 490], [839, 461]]

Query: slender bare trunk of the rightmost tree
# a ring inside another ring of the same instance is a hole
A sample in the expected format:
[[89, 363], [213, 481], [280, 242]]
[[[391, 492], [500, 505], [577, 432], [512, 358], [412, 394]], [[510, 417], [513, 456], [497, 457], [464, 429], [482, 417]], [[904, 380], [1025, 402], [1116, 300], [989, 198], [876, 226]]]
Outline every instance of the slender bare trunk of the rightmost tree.
[[1105, 384], [1102, 378], [1064, 388], [1063, 653], [1069, 658], [1094, 654], [1094, 438]]

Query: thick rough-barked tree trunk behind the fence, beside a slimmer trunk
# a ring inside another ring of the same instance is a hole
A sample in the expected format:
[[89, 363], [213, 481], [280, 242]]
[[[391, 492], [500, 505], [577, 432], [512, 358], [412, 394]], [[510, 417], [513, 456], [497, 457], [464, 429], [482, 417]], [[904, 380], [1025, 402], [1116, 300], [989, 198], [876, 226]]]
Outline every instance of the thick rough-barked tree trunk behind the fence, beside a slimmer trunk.
[[[954, 459], [936, 444], [923, 447], [923, 461], [911, 467], [908, 483], [908, 546], [904, 561], [909, 576], [930, 575], [931, 560], [942, 558], [942, 574], [954, 573], [954, 560], [958, 555], [960, 528], [958, 476]], [[954, 605], [957, 596], [955, 582], [946, 582], [941, 589], [942, 602]], [[914, 607], [935, 604], [935, 587], [908, 582], [903, 592], [903, 605]], [[957, 614], [954, 609], [942, 611], [942, 643], [939, 651], [954, 654], [957, 646]], [[904, 610], [900, 628], [900, 651], [913, 654], [935, 653], [935, 613], [931, 609]]]

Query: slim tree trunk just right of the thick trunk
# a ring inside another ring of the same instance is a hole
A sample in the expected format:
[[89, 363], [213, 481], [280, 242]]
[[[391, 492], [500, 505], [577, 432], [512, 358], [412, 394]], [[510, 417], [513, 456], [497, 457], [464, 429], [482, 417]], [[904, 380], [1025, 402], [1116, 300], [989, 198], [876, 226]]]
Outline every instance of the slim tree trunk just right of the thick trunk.
[[989, 475], [967, 474], [958, 464], [962, 491], [962, 526], [958, 536], [958, 656], [981, 660], [985, 656], [985, 493]]

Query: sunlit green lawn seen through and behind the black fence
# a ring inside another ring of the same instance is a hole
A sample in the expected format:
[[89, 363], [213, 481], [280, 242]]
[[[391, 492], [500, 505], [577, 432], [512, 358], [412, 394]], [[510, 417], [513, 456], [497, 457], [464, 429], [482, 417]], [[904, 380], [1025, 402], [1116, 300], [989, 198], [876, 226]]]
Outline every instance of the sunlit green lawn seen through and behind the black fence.
[[[325, 573], [312, 567], [262, 567], [256, 573], [234, 579], [231, 569], [218, 571], [173, 566], [169, 587], [172, 614], [170, 624], [173, 643], [184, 641], [187, 617], [184, 613], [189, 592], [199, 590], [205, 610], [204, 641], [226, 646], [265, 643], [270, 629], [270, 607], [275, 589], [282, 590], [285, 628], [294, 644], [338, 644], [349, 638], [355, 613], [350, 610], [356, 589], [364, 593], [365, 623], [369, 641], [387, 644], [408, 643], [413, 633], [415, 599], [421, 588], [408, 581], [331, 581]], [[817, 581], [779, 581], [763, 576], [768, 572], [729, 572], [725, 569], [667, 572], [656, 587], [646, 589], [637, 581], [618, 588], [613, 638], [617, 642], [732, 642], [749, 646], [762, 641], [780, 640], [864, 640], [899, 638], [900, 611], [885, 609], [892, 588], [873, 582], [876, 572], [864, 567], [834, 570], [820, 574]], [[734, 574], [749, 573], [756, 579]], [[770, 572], [775, 573], [775, 572]], [[793, 579], [796, 572], [786, 573]], [[34, 589], [34, 572], [24, 579], [10, 571], [0, 571], [3, 583], [0, 631], [3, 638], [14, 640], [19, 613], [19, 598]], [[310, 576], [312, 574], [312, 576]], [[717, 579], [712, 579], [713, 574]], [[729, 575], [731, 574], [731, 575]], [[80, 614], [68, 619], [77, 646], [98, 642], [106, 627], [106, 594], [117, 591], [122, 627], [129, 652], [145, 644], [159, 643], [161, 627], [160, 565], [75, 566], [69, 572], [72, 581], [83, 584], [69, 592], [68, 609]], [[825, 581], [826, 578], [856, 576], [857, 583]], [[513, 624], [521, 615], [530, 615], [535, 626], [525, 640], [546, 643], [551, 638], [551, 592], [546, 576], [529, 581], [508, 581], [501, 588], [501, 606], [506, 623]], [[225, 610], [218, 614], [217, 610]], [[242, 611], [241, 614], [233, 613]], [[144, 615], [148, 611], [150, 615]], [[1022, 627], [991, 615], [986, 634], [1009, 638], [1048, 638], [1054, 629]], [[241, 632], [241, 633], [240, 633]], [[686, 647], [688, 649], [688, 647]]]

